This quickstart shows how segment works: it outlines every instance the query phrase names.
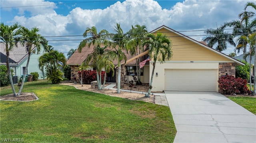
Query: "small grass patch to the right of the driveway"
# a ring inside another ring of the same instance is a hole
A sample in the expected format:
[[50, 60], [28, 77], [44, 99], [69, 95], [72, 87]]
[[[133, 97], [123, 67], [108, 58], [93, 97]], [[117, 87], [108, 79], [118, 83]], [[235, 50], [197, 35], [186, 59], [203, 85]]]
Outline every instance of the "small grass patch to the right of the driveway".
[[256, 115], [256, 98], [232, 96], [229, 96], [228, 98]]

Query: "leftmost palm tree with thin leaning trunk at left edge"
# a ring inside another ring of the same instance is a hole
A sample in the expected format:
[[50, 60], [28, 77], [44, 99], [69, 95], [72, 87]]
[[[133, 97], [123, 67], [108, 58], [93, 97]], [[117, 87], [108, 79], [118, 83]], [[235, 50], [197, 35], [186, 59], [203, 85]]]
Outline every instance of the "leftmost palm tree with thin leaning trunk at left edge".
[[20, 36], [20, 30], [19, 28], [21, 25], [18, 23], [15, 23], [14, 25], [4, 25], [4, 23], [0, 24], [0, 40], [1, 43], [4, 43], [5, 49], [6, 49], [6, 66], [7, 66], [7, 75], [10, 80], [10, 84], [12, 86], [12, 92], [14, 96], [17, 96], [16, 91], [14, 89], [14, 84], [12, 82], [12, 72], [11, 72], [11, 67], [10, 67], [10, 62], [9, 62], [9, 57], [10, 57], [10, 51], [14, 47], [17, 47], [17, 43], [19, 41], [19, 36]]

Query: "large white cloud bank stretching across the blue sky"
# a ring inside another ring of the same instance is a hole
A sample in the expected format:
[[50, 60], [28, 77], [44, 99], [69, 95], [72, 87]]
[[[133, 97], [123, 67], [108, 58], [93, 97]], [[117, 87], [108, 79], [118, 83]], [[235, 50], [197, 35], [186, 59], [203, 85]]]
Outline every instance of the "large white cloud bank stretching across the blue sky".
[[[46, 5], [53, 4], [42, 0], [35, 1], [5, 1], [1, 2], [2, 7], [25, 6], [25, 5]], [[28, 4], [29, 3], [29, 4]], [[166, 25], [176, 31], [202, 30], [216, 28], [226, 21], [238, 19], [238, 14], [242, 12], [246, 1], [223, 1], [207, 0], [192, 1], [186, 0], [178, 2], [170, 10], [162, 9], [161, 6], [153, 0], [126, 0], [117, 1], [115, 4], [96, 10], [85, 10], [76, 7], [70, 10], [67, 16], [57, 14], [54, 11], [56, 6], [38, 6], [18, 8], [20, 14], [28, 11], [31, 17], [22, 15], [15, 16], [12, 22], [19, 22], [25, 27], [37, 26], [41, 29], [44, 36], [61, 35], [82, 35], [86, 27], [96, 26], [98, 31], [107, 29], [113, 32], [116, 23], [120, 23], [124, 32], [128, 31], [132, 25], [146, 25], [148, 31], [156, 29], [161, 25]], [[69, 9], [67, 9], [69, 10]], [[185, 35], [202, 35], [203, 31], [184, 33]], [[63, 37], [71, 39], [72, 37]], [[81, 39], [80, 37], [73, 37]], [[196, 40], [202, 37], [194, 36]], [[76, 48], [80, 41], [76, 43], [58, 44], [56, 49], [66, 50]], [[57, 42], [60, 43], [60, 42]], [[234, 49], [233, 47], [229, 48]], [[230, 53], [230, 52], [227, 52]]]

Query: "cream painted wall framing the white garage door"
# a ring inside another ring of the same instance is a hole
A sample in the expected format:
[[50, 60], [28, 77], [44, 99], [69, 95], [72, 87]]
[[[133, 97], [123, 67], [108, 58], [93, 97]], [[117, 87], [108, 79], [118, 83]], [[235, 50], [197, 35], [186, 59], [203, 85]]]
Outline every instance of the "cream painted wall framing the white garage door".
[[[165, 90], [165, 69], [215, 69], [216, 70], [216, 82], [218, 81], [218, 66], [219, 63], [190, 63], [188, 61], [167, 61], [166, 63], [160, 64], [159, 62], [156, 63], [155, 71], [154, 71], [154, 78], [152, 83], [152, 92], [153, 91], [162, 91]], [[150, 72], [149, 72], [149, 80], [151, 79], [151, 73], [153, 70], [153, 65], [150, 64]], [[158, 76], [156, 76], [158, 73]], [[216, 83], [216, 86], [218, 84]], [[216, 87], [216, 90], [218, 88]], [[217, 92], [217, 91], [216, 91]]]

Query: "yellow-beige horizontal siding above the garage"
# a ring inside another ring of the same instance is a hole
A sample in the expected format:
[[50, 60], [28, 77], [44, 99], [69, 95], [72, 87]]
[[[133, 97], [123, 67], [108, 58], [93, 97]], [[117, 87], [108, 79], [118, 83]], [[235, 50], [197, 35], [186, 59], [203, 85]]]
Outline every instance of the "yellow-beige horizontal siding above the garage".
[[230, 59], [218, 55], [198, 43], [194, 43], [167, 29], [163, 28], [159, 31], [164, 32], [172, 40], [173, 57], [171, 61], [230, 61]]

